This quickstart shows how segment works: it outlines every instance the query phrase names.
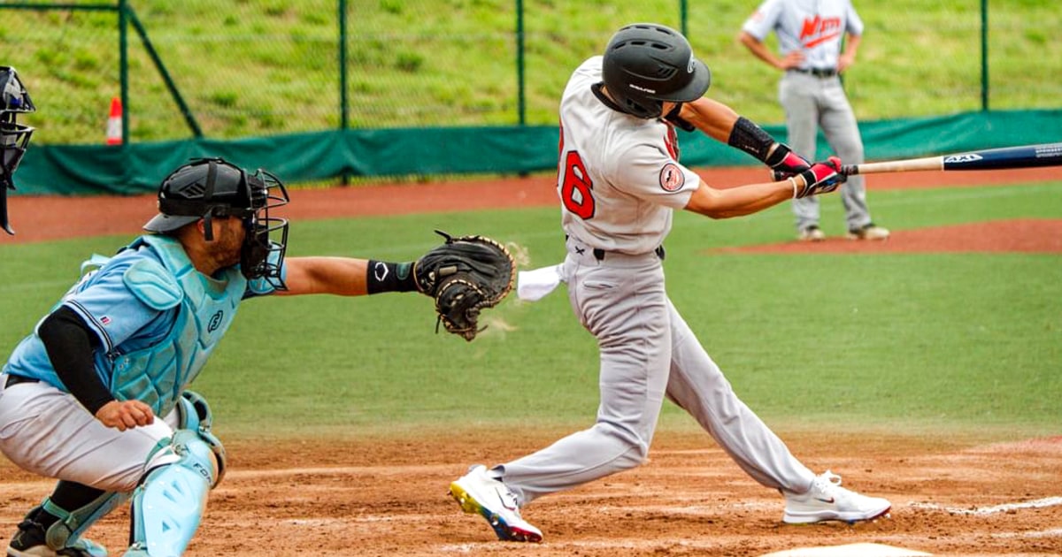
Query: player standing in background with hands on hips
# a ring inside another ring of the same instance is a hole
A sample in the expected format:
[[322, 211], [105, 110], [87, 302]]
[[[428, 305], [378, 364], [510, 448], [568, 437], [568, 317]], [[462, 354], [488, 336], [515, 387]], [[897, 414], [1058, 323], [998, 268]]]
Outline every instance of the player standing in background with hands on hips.
[[[862, 20], [850, 0], [765, 0], [741, 28], [738, 40], [756, 57], [783, 71], [778, 99], [786, 111], [787, 141], [798, 153], [815, 156], [816, 136], [822, 127], [830, 150], [845, 163], [863, 162], [859, 125], [840, 79], [856, 59], [862, 30]], [[764, 45], [771, 31], [778, 36], [781, 58]], [[888, 229], [871, 221], [862, 176], [850, 177], [840, 194], [849, 238], [889, 238]], [[800, 240], [825, 239], [819, 228], [819, 199], [793, 199], [793, 213]]]

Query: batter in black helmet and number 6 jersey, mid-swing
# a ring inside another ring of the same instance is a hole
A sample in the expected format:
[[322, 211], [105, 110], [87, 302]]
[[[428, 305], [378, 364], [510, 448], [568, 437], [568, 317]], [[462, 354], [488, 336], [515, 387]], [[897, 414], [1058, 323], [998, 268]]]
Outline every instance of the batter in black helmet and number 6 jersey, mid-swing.
[[[740, 216], [833, 191], [840, 161], [808, 164], [727, 106], [704, 98], [710, 74], [676, 31], [639, 23], [584, 62], [561, 99], [558, 194], [567, 251], [559, 274], [600, 350], [597, 423], [531, 455], [473, 466], [450, 485], [499, 539], [539, 541], [519, 508], [645, 462], [667, 397], [750, 476], [785, 498], [784, 520], [871, 520], [884, 499], [816, 475], [731, 389], [665, 291], [663, 243], [673, 211]], [[672, 124], [700, 128], [791, 177], [715, 189], [679, 162]], [[799, 334], [794, 331], [793, 334]]]

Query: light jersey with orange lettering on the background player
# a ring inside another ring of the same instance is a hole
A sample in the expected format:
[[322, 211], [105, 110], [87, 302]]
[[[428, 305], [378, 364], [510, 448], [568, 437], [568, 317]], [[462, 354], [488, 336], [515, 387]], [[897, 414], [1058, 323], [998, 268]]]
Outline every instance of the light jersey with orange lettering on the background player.
[[863, 23], [851, 0], [766, 0], [741, 30], [758, 40], [774, 31], [783, 56], [804, 52], [804, 69], [835, 69], [844, 33], [862, 35]]

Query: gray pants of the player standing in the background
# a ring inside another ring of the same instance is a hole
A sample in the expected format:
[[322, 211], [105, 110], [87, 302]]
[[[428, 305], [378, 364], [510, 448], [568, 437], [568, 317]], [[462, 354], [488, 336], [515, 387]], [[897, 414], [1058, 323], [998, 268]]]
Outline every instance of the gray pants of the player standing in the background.
[[[798, 154], [816, 157], [819, 127], [829, 149], [844, 164], [863, 162], [862, 139], [852, 105], [840, 77], [817, 77], [794, 71], [786, 72], [778, 84], [778, 100], [786, 111], [786, 142]], [[871, 222], [867, 209], [867, 189], [862, 176], [852, 176], [838, 190], [844, 205], [849, 230]], [[793, 199], [796, 229], [819, 225], [819, 197]]]

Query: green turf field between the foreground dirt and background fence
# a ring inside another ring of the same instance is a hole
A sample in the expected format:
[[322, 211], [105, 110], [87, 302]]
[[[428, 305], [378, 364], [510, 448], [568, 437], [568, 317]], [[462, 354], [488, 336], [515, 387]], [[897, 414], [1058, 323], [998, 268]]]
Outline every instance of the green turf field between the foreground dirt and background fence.
[[[1062, 182], [872, 192], [893, 229], [1062, 219]], [[823, 224], [841, 232], [839, 201]], [[556, 210], [297, 222], [289, 255], [391, 260], [436, 244], [432, 228], [563, 256]], [[676, 215], [668, 290], [737, 393], [780, 428], [1058, 434], [1062, 256], [737, 255], [786, 241], [787, 206], [733, 221]], [[0, 350], [10, 351], [93, 251], [130, 238], [0, 246]], [[597, 350], [564, 290], [511, 296], [468, 344], [434, 333], [428, 298], [267, 298], [241, 307], [194, 384], [229, 436], [399, 434], [466, 427], [576, 427], [597, 405]], [[504, 326], [502, 326], [504, 325]], [[666, 404], [665, 428], [693, 428]]]

